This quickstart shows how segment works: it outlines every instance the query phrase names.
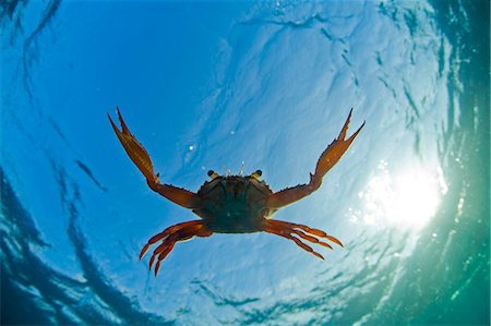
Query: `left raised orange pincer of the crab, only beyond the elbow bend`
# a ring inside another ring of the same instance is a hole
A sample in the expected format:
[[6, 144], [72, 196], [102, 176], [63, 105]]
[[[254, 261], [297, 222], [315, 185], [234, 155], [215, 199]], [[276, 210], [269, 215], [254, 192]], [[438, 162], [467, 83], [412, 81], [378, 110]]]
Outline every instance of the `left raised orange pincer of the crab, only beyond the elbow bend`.
[[116, 126], [115, 122], [111, 119], [111, 116], [109, 116], [109, 112], [107, 113], [107, 117], [109, 118], [109, 122], [111, 123], [112, 129], [118, 136], [118, 140], [121, 142], [121, 145], [123, 146], [131, 160], [136, 165], [143, 176], [145, 176], [148, 183], [158, 183], [158, 174], [154, 173], [154, 166], [152, 165], [152, 159], [148, 153], [135, 138], [135, 136], [131, 134], [127, 123], [124, 123], [118, 106], [116, 106], [116, 111], [118, 112], [119, 122], [121, 123], [121, 131], [118, 129], [118, 126]]

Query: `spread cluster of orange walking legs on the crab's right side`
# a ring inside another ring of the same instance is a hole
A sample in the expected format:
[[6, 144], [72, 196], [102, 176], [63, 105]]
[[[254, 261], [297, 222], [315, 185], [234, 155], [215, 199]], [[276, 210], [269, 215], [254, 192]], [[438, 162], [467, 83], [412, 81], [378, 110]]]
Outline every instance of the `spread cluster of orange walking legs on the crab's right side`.
[[[301, 229], [301, 230], [298, 230], [298, 229]], [[308, 234], [309, 231], [307, 231], [307, 230], [313, 230], [315, 233], [310, 232], [311, 234]], [[322, 246], [330, 247], [330, 249], [333, 249], [333, 247], [328, 243], [320, 241], [318, 238], [315, 238], [313, 236], [327, 238], [328, 240], [343, 246], [343, 244], [340, 243], [339, 240], [337, 240], [334, 237], [327, 236], [324, 231], [321, 231], [318, 229], [311, 229], [303, 225], [290, 224], [290, 222], [286, 222], [286, 221], [282, 221], [282, 220], [275, 220], [275, 219], [265, 220], [264, 231], [266, 231], [268, 233], [280, 236], [280, 237], [289, 239], [289, 240], [292, 240], [298, 246], [300, 246], [301, 249], [312, 253], [313, 255], [315, 255], [322, 259], [324, 259], [324, 257], [321, 254], [315, 252], [309, 245], [301, 242], [300, 239], [294, 237], [294, 234], [296, 234], [307, 241], [310, 241], [312, 243], [316, 243], [316, 244], [320, 244]]]

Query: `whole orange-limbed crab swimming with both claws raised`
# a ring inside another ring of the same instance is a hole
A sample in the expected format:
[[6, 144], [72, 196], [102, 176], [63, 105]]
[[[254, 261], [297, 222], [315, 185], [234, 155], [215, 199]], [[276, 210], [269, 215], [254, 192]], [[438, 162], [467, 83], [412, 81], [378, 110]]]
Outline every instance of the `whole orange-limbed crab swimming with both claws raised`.
[[[118, 129], [108, 113], [109, 122], [128, 156], [146, 178], [148, 186], [165, 198], [191, 209], [201, 218], [168, 227], [152, 237], [143, 246], [140, 259], [149, 246], [160, 242], [153, 251], [148, 263], [148, 269], [152, 270], [156, 259], [155, 276], [158, 274], [160, 263], [172, 251], [177, 242], [194, 237], [209, 237], [213, 233], [264, 231], [291, 240], [298, 246], [321, 259], [324, 259], [324, 257], [302, 240], [328, 249], [333, 249], [333, 246], [326, 241], [344, 246], [338, 239], [322, 230], [306, 225], [272, 219], [272, 217], [279, 208], [310, 195], [321, 186], [323, 177], [337, 164], [364, 125], [363, 122], [351, 136], [346, 138], [352, 109], [349, 111], [337, 138], [321, 154], [314, 173], [310, 173], [309, 183], [286, 188], [278, 192], [273, 192], [266, 182], [260, 179], [261, 170], [256, 170], [250, 176], [243, 176], [241, 172], [237, 176], [229, 173], [219, 176], [209, 170], [207, 174], [211, 180], [205, 181], [197, 192], [160, 183], [159, 174], [154, 172], [148, 153], [128, 129], [118, 106], [116, 110], [121, 130]], [[322, 241], [323, 239], [325, 240]]]

